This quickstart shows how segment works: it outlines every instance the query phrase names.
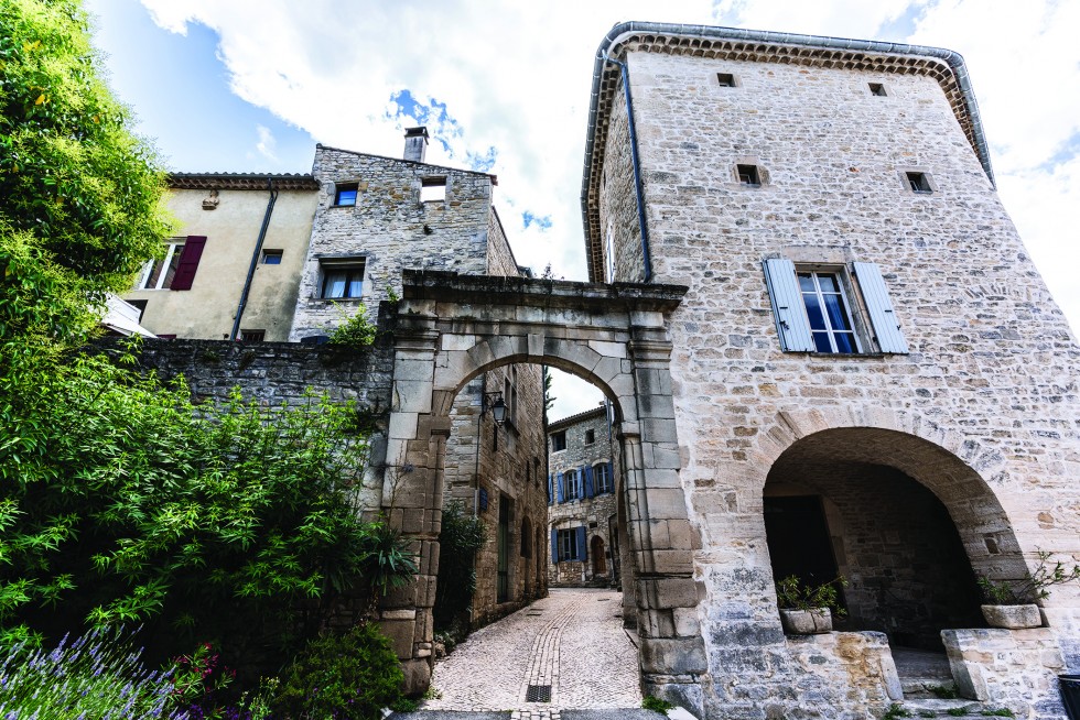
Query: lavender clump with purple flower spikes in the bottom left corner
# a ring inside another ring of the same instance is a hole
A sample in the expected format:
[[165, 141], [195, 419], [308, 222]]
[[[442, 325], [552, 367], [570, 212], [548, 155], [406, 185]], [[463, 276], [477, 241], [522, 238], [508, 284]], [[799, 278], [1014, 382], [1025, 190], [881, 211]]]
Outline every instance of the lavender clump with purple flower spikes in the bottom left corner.
[[184, 718], [168, 710], [171, 670], [147, 669], [119, 629], [94, 630], [56, 648], [17, 643], [0, 656], [0, 716], [75, 720]]

